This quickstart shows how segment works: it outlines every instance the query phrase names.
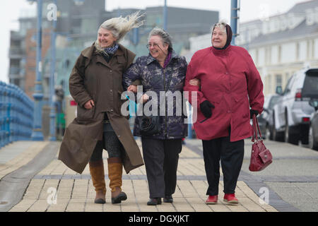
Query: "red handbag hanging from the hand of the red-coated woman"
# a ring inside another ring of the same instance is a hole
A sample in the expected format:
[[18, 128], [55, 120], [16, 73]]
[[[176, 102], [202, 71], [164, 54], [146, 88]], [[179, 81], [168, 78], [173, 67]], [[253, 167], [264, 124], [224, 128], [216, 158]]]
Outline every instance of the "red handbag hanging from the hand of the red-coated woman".
[[[259, 131], [259, 137], [257, 136], [257, 131]], [[255, 141], [256, 140], [256, 141]], [[267, 149], [263, 143], [263, 139], [261, 138], [261, 131], [259, 129], [259, 122], [257, 121], [257, 117], [253, 114], [253, 136], [252, 136], [252, 153], [251, 153], [251, 161], [249, 162], [249, 170], [250, 171], [261, 171], [268, 167], [271, 162], [273, 162], [273, 156], [269, 149]]]

